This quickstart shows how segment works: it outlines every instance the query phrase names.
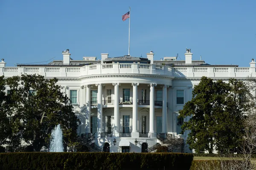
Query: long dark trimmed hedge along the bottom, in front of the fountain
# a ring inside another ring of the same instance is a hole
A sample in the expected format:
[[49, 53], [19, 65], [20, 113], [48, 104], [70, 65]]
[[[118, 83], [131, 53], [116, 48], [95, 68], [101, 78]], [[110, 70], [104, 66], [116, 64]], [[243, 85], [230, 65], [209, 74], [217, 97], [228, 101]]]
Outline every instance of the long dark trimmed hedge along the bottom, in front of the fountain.
[[2, 170], [189, 170], [189, 153], [0, 153]]

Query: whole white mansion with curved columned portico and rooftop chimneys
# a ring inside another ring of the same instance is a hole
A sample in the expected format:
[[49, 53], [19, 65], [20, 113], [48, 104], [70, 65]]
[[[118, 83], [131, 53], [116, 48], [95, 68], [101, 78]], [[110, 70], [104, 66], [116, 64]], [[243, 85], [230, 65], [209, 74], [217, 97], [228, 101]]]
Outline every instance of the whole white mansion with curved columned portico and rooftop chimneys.
[[[256, 75], [254, 59], [250, 67], [209, 65], [192, 60], [190, 49], [185, 60], [177, 57], [154, 60], [152, 51], [147, 58], [111, 58], [101, 54], [101, 60], [96, 57], [72, 60], [69, 50], [62, 54], [63, 61], [46, 65], [6, 67], [2, 59], [0, 76], [26, 73], [57, 77], [61, 91], [69, 96], [81, 119], [79, 135], [110, 152], [145, 152], [161, 143], [160, 139], [166, 135], [186, 141], [188, 134], [180, 128], [186, 119], [177, 117], [202, 76], [227, 81], [230, 77], [246, 79]], [[183, 152], [192, 151], [185, 145]]]

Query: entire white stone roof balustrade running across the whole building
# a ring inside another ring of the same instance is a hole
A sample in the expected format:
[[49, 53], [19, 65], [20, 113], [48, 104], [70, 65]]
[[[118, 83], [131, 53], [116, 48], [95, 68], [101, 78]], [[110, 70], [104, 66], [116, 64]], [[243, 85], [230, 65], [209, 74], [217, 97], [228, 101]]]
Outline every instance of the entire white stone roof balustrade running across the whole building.
[[[74, 74], [75, 73], [75, 74]], [[96, 64], [83, 67], [4, 67], [0, 76], [40, 74], [45, 77], [82, 77], [99, 74], [156, 74], [173, 77], [247, 77], [256, 76], [256, 68], [250, 67], [171, 67], [155, 64]]]

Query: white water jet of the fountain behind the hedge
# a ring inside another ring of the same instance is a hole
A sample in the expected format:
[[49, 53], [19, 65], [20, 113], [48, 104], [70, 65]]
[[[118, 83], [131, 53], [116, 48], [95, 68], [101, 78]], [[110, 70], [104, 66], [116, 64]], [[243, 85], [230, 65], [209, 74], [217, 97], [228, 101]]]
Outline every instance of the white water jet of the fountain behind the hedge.
[[63, 152], [61, 125], [57, 125], [52, 130], [49, 152]]

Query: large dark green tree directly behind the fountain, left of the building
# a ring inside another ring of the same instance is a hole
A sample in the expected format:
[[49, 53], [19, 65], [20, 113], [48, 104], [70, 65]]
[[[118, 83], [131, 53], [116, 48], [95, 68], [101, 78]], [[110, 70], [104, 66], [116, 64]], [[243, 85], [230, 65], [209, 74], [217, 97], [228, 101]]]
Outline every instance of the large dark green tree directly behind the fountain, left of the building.
[[40, 75], [21, 75], [8, 78], [10, 96], [15, 105], [12, 109], [12, 129], [40, 151], [49, 144], [50, 134], [55, 125], [60, 124], [64, 142], [76, 142], [79, 119], [73, 112], [67, 95], [63, 95], [58, 79], [44, 79]]

